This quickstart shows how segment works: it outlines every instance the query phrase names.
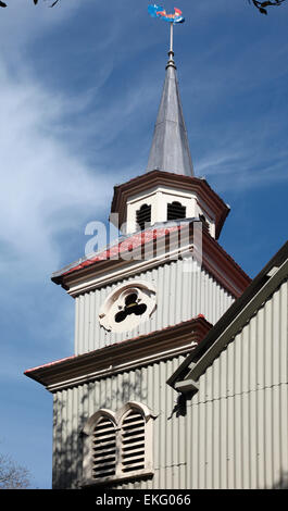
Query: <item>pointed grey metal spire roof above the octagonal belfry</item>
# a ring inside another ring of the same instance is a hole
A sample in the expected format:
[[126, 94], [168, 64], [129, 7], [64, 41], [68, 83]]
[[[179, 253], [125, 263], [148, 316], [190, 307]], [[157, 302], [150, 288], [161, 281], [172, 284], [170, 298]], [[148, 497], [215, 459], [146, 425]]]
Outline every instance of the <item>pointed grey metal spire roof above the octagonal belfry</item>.
[[165, 171], [193, 175], [187, 130], [178, 89], [176, 65], [171, 48], [147, 172]]

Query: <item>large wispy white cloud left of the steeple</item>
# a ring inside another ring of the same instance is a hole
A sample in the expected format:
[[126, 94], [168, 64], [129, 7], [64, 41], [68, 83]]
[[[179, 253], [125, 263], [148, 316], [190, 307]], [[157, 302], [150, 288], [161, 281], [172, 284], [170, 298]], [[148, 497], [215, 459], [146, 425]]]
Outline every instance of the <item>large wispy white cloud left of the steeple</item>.
[[[103, 65], [92, 86], [74, 97], [50, 90], [26, 59], [25, 49], [80, 8], [79, 0], [68, 7], [62, 3], [61, 9], [51, 10], [47, 2], [37, 8], [27, 2], [24, 9], [21, 0], [10, 1], [2, 11], [5, 18], [0, 18], [5, 41], [0, 59], [0, 275], [10, 284], [40, 283], [58, 270], [61, 246], [55, 239], [65, 230], [80, 228], [87, 215], [90, 220], [98, 220], [103, 211], [108, 215], [115, 180], [133, 175], [133, 163], [122, 170], [115, 158], [115, 172], [108, 174], [104, 166], [89, 165], [84, 151], [86, 137], [93, 138], [97, 151], [112, 144], [123, 122], [136, 114], [143, 95], [143, 88], [121, 91], [125, 104], [120, 97], [103, 107], [100, 97], [98, 112], [89, 108], [113, 71], [114, 59], [104, 53], [118, 37], [117, 25], [99, 47]], [[78, 256], [83, 254], [80, 247]], [[0, 296], [5, 292], [2, 286]]]

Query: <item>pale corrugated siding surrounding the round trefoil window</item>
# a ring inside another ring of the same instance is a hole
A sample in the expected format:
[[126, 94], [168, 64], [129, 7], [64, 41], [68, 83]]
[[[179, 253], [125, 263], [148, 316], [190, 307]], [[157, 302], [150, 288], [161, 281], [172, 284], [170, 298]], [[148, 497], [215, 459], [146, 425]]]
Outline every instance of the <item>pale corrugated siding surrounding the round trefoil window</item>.
[[[113, 285], [80, 295], [75, 299], [75, 353], [109, 346], [113, 342], [149, 334], [166, 326], [204, 314], [214, 324], [233, 303], [234, 298], [203, 270], [184, 272], [181, 260], [139, 273]], [[123, 334], [112, 334], [100, 327], [98, 315], [110, 292], [118, 285], [135, 279], [148, 281], [156, 288], [156, 311], [150, 320]]]

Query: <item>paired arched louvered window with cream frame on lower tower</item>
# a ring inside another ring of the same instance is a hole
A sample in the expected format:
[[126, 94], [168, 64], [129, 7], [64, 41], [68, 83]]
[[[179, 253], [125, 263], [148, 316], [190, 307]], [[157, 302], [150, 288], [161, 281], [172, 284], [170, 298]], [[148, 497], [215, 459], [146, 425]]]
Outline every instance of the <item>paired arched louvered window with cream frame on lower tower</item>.
[[152, 470], [152, 414], [138, 402], [99, 410], [84, 427], [83, 486], [147, 477]]

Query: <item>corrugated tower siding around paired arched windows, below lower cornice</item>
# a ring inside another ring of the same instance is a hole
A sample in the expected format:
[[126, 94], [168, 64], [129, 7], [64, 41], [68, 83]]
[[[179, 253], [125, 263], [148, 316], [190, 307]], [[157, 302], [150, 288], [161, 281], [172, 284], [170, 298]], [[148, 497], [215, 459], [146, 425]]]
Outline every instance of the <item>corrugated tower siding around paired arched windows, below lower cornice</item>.
[[[76, 487], [82, 481], [80, 431], [89, 416], [100, 408], [120, 410], [127, 401], [139, 401], [155, 413], [153, 420], [152, 479], [115, 485], [115, 488], [189, 487], [188, 462], [190, 433], [185, 416], [172, 411], [176, 392], [166, 379], [178, 367], [183, 357], [147, 367], [124, 372], [54, 395], [53, 487]], [[170, 419], [170, 416], [172, 417]], [[186, 441], [183, 439], [186, 438]], [[188, 486], [187, 486], [188, 485]]]

